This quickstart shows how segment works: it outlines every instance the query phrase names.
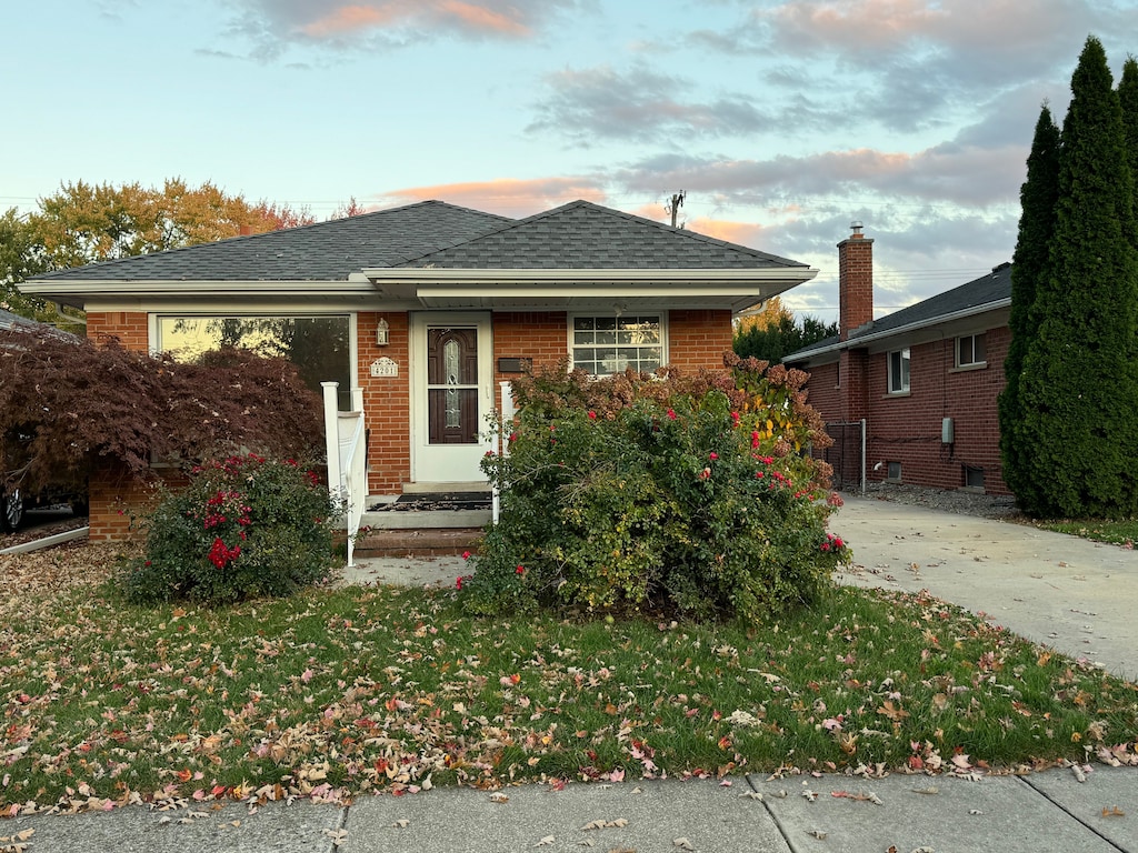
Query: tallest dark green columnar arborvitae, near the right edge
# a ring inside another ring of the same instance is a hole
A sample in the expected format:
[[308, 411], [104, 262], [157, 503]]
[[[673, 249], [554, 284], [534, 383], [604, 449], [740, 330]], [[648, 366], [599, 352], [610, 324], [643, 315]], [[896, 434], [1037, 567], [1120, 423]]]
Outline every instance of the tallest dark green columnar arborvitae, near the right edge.
[[1017, 453], [1041, 516], [1138, 512], [1138, 250], [1122, 109], [1106, 53], [1087, 40], [1063, 123], [1050, 274], [1020, 379]]

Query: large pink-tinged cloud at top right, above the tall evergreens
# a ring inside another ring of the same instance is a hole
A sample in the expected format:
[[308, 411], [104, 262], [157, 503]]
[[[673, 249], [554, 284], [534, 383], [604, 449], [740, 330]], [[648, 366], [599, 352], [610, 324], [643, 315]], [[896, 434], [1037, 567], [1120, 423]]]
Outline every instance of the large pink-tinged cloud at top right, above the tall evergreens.
[[768, 106], [781, 126], [797, 118], [795, 126], [810, 130], [915, 133], [990, 111], [1004, 93], [1032, 83], [1065, 89], [1056, 57], [1070, 58], [1069, 73], [1088, 32], [1113, 38], [1121, 57], [1132, 49], [1122, 34], [1132, 32], [1133, 9], [1120, 6], [1130, 5], [787, 0], [747, 3], [729, 28], [702, 28], [686, 39], [768, 66], [761, 73], [770, 105], [808, 88], [833, 92], [833, 102], [807, 102], [797, 113], [790, 105]]

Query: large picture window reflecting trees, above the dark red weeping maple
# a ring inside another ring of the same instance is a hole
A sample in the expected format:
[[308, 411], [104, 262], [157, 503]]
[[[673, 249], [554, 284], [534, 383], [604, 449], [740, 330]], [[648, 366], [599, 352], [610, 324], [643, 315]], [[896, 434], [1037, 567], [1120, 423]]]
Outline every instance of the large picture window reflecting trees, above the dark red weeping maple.
[[347, 315], [158, 316], [156, 321], [156, 348], [178, 361], [190, 362], [226, 346], [287, 358], [316, 394], [321, 382], [339, 382], [339, 407], [351, 408], [352, 322]]

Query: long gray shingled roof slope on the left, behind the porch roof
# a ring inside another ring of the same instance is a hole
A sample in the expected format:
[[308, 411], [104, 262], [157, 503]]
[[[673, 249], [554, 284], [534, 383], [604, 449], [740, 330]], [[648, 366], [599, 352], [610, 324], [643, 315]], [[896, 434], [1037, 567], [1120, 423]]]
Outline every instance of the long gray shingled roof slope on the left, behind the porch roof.
[[345, 281], [510, 223], [444, 201], [36, 275], [36, 281]]

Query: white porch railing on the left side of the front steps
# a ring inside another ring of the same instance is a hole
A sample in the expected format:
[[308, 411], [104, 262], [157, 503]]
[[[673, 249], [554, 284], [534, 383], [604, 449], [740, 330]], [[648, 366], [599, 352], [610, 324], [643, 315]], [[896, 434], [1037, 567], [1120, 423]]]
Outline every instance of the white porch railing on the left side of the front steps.
[[336, 399], [339, 382], [321, 382], [324, 389], [324, 446], [328, 450], [328, 491], [343, 507], [348, 533], [348, 566], [355, 565], [355, 537], [368, 502], [368, 446], [363, 417], [363, 389], [352, 389], [351, 412], [340, 412]]

